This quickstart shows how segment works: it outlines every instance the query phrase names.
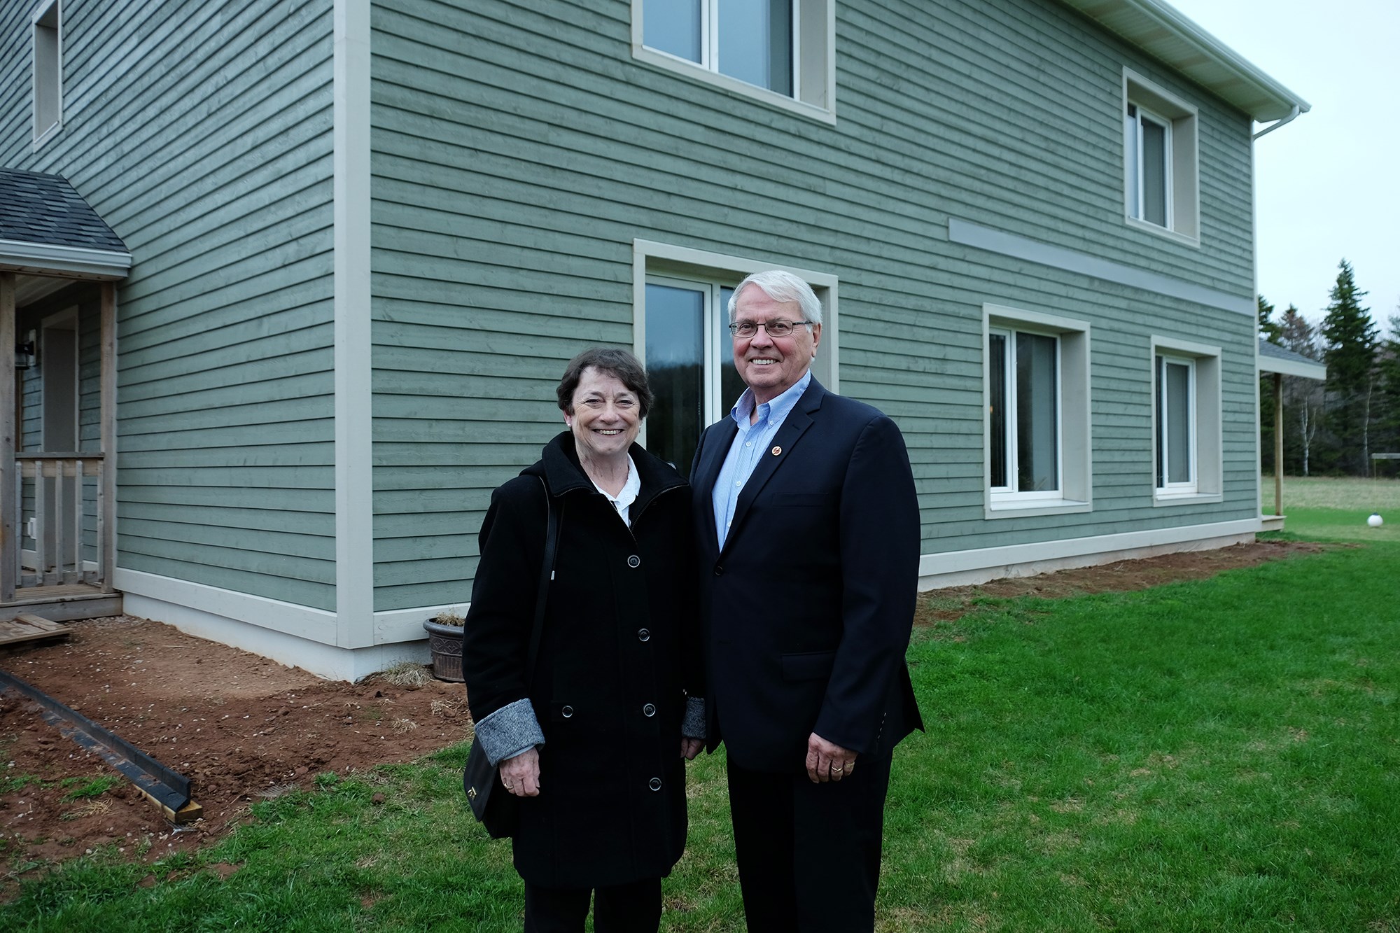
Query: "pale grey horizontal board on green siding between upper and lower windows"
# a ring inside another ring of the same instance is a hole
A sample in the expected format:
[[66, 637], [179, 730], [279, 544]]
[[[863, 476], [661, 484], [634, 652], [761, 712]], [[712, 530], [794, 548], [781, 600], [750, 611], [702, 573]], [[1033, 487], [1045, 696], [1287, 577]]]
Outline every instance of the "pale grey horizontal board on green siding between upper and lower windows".
[[1032, 240], [1030, 237], [983, 227], [981, 224], [974, 224], [970, 220], [949, 217], [948, 240], [965, 247], [976, 247], [977, 249], [997, 252], [1004, 256], [1012, 256], [1014, 259], [1037, 262], [1043, 266], [1063, 269], [1064, 272], [1075, 272], [1093, 279], [1103, 279], [1105, 282], [1128, 286], [1130, 289], [1155, 291], [1156, 294], [1165, 294], [1169, 298], [1194, 301], [1197, 304], [1219, 308], [1222, 311], [1235, 311], [1236, 314], [1250, 315], [1257, 314], [1259, 311], [1253, 297], [1239, 297], [1225, 291], [1217, 291], [1215, 289], [1207, 289], [1205, 286], [1187, 282], [1186, 279], [1175, 279], [1172, 276], [1163, 276], [1144, 269], [1134, 269], [1133, 266], [1126, 266], [1120, 262], [1099, 259], [1098, 256], [1091, 256], [1085, 252], [1065, 249], [1064, 247], [1054, 247], [1047, 242], [1040, 242], [1039, 240]]

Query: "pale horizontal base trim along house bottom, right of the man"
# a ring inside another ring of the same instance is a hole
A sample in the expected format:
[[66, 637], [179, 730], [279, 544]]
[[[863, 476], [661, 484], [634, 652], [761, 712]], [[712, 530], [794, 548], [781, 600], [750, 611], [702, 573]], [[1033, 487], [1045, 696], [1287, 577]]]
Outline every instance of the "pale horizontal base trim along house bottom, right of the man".
[[1004, 548], [925, 553], [918, 559], [918, 588], [934, 590], [1004, 577], [1029, 577], [1050, 570], [1086, 567], [1155, 553], [1210, 551], [1249, 541], [1259, 531], [1263, 531], [1263, 525], [1254, 517], [1092, 538], [1037, 541]]

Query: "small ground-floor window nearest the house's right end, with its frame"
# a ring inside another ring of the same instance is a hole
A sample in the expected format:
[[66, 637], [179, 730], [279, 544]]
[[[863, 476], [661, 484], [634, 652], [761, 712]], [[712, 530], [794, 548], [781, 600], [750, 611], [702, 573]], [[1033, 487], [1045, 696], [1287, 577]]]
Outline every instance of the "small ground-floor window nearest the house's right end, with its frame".
[[1219, 347], [1152, 338], [1154, 502], [1219, 502]]

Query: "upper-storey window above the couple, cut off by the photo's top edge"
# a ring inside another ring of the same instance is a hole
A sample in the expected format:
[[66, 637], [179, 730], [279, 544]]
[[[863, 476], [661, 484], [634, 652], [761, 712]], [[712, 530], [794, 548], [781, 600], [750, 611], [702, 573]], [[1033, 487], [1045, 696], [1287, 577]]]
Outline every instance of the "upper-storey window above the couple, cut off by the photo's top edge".
[[832, 106], [834, 29], [834, 0], [633, 0], [636, 57], [809, 115]]

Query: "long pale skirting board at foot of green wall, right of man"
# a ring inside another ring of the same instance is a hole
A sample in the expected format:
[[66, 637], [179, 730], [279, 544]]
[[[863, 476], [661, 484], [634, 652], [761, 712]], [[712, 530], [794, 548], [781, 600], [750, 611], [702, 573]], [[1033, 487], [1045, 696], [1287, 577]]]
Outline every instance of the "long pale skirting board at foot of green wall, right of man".
[[[1235, 535], [1252, 535], [1261, 530], [1263, 527], [1259, 517], [1253, 517], [1205, 525], [1179, 525], [1175, 528], [1126, 531], [1116, 535], [1095, 535], [1091, 538], [1037, 541], [1033, 544], [1007, 545], [1002, 548], [976, 548], [970, 551], [925, 553], [918, 559], [920, 588], [924, 588], [925, 579], [946, 577], [948, 574], [990, 572], [990, 574], [983, 579], [995, 580], [1007, 576], [1023, 576], [1016, 574], [1012, 570], [1019, 565], [1036, 565], [1046, 560], [1085, 558], [1096, 553], [1114, 553], [1140, 548], [1162, 548], [1194, 541], [1229, 538]], [[1177, 546], [1175, 549], [1182, 551], [1183, 548]]]

